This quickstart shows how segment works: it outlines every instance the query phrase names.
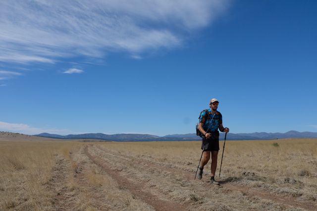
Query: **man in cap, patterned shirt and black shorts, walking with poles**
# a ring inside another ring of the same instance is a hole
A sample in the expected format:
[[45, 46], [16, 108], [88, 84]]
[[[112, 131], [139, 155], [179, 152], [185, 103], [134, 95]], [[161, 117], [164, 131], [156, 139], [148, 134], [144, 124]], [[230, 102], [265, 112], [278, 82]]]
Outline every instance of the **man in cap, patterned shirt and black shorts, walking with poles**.
[[199, 179], [203, 178], [203, 169], [204, 166], [208, 163], [211, 155], [211, 184], [219, 184], [214, 180], [214, 174], [217, 168], [217, 158], [219, 151], [219, 131], [229, 132], [228, 127], [222, 126], [222, 115], [217, 111], [219, 101], [215, 98], [212, 98], [210, 101], [210, 109], [201, 114], [199, 120], [198, 129], [203, 134], [202, 141], [202, 150], [203, 157], [199, 164], [199, 170], [197, 177]]

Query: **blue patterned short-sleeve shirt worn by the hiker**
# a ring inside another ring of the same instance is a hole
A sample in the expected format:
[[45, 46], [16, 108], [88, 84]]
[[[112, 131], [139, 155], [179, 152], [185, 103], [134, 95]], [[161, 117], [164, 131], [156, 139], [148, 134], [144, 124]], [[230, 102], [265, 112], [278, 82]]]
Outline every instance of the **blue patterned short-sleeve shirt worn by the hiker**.
[[[207, 112], [209, 115], [207, 115]], [[206, 119], [206, 116], [208, 118]], [[220, 112], [216, 111], [214, 115], [211, 114], [211, 108], [208, 109], [208, 111], [203, 112], [200, 119], [199, 123], [203, 123], [204, 130], [206, 132], [214, 132], [218, 129], [219, 125], [222, 123], [222, 115]]]

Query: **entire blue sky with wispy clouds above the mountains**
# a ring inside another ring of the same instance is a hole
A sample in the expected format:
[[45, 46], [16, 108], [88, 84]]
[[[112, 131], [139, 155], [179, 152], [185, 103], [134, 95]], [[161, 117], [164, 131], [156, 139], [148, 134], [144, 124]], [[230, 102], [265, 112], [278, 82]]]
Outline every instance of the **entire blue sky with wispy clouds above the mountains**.
[[0, 130], [317, 132], [315, 0], [1, 0]]

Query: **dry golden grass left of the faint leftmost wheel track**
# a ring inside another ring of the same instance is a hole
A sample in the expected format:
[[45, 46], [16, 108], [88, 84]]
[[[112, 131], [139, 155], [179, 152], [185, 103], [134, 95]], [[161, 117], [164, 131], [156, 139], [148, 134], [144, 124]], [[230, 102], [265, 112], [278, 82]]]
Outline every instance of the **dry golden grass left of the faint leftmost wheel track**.
[[0, 142], [0, 210], [43, 210], [51, 207], [45, 184], [56, 154], [71, 150], [62, 142]]

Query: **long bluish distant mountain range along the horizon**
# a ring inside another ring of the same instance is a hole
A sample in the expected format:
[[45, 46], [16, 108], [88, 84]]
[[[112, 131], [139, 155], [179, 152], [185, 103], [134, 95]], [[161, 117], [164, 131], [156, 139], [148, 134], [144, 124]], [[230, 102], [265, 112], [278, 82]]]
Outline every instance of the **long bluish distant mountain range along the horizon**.
[[[99, 139], [110, 141], [186, 141], [201, 140], [196, 133], [173, 134], [165, 136], [149, 134], [104, 134], [104, 133], [85, 133], [77, 135], [56, 135], [41, 133], [35, 136], [58, 138], [58, 139]], [[298, 132], [291, 130], [285, 133], [275, 132], [254, 132], [254, 133], [228, 133], [226, 140], [265, 140], [278, 138], [317, 138], [317, 132]], [[224, 133], [220, 133], [220, 140], [224, 139]]]

